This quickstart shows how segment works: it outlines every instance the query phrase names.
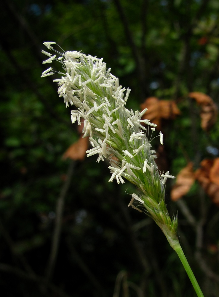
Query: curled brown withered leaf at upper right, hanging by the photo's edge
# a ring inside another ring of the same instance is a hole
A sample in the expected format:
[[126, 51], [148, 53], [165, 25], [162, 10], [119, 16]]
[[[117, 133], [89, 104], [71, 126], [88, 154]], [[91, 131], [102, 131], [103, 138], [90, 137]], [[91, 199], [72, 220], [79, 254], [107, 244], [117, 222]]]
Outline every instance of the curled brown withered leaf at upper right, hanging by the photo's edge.
[[211, 97], [201, 92], [191, 92], [188, 95], [200, 105], [201, 127], [203, 130], [209, 131], [217, 120], [218, 108], [216, 104]]

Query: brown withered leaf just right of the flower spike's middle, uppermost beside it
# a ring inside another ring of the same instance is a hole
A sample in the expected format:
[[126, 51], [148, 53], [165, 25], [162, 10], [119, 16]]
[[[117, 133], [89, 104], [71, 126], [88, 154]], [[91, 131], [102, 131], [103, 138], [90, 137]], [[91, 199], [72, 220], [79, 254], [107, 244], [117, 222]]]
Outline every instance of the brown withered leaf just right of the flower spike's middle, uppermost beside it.
[[161, 130], [162, 119], [172, 120], [180, 114], [175, 101], [173, 100], [159, 100], [156, 97], [147, 98], [141, 105], [141, 110], [147, 108], [148, 110], [141, 119], [148, 119], [152, 123], [157, 124], [157, 129]]

